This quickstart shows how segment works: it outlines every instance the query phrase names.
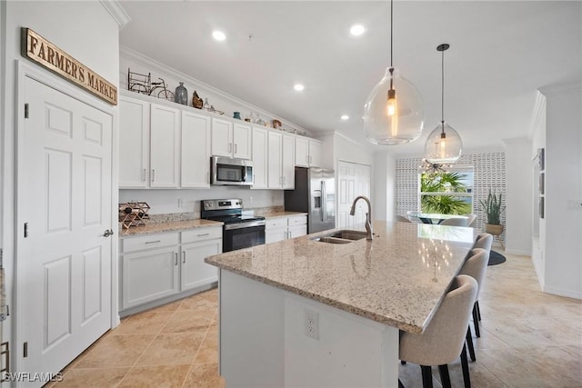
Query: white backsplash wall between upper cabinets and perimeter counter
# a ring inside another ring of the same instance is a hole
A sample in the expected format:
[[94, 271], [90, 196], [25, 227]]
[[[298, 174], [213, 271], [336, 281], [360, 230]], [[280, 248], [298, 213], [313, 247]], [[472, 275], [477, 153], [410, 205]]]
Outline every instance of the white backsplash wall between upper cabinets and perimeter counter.
[[[222, 186], [198, 190], [119, 190], [119, 203], [146, 202], [150, 206], [149, 216], [153, 222], [160, 217], [168, 221], [200, 218], [200, 201], [204, 199], [241, 198], [243, 208], [262, 209], [284, 205], [283, 190], [251, 190]], [[164, 221], [162, 221], [164, 222]]]

